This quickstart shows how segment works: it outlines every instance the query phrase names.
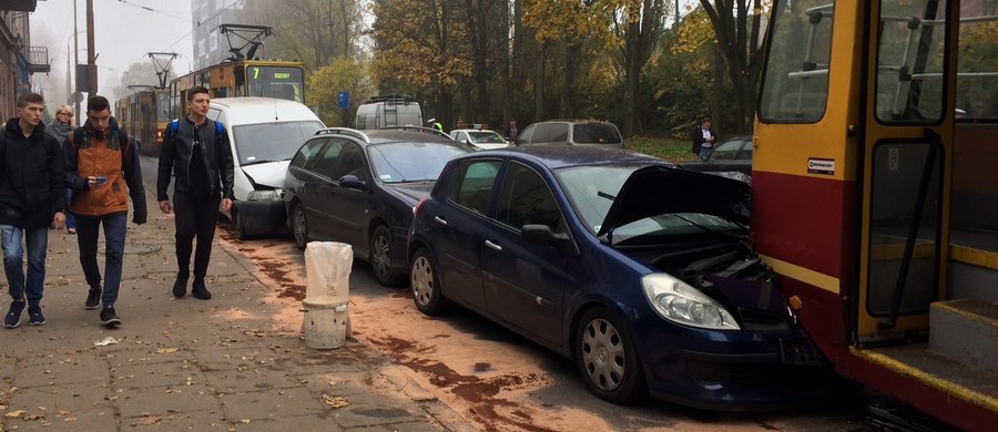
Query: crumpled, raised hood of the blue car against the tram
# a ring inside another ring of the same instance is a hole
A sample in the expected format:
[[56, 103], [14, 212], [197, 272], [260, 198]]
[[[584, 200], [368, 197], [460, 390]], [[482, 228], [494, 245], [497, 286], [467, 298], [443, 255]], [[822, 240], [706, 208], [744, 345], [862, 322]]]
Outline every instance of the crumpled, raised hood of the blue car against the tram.
[[747, 225], [750, 199], [750, 187], [744, 182], [651, 165], [635, 171], [624, 182], [597, 235], [670, 213], [702, 213]]

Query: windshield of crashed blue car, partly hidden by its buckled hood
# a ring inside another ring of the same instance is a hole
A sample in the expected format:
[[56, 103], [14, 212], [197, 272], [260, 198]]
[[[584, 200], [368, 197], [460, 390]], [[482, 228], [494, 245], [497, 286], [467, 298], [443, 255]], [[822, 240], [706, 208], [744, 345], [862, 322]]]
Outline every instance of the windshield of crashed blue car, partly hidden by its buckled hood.
[[[582, 224], [595, 235], [617, 199], [620, 188], [635, 171], [646, 165], [591, 165], [554, 171], [569, 202]], [[648, 197], [661, 199], [662, 197]], [[729, 233], [744, 227], [723, 217], [699, 213], [654, 215], [615, 227], [612, 243], [643, 241], [650, 237], [681, 236], [704, 233]]]

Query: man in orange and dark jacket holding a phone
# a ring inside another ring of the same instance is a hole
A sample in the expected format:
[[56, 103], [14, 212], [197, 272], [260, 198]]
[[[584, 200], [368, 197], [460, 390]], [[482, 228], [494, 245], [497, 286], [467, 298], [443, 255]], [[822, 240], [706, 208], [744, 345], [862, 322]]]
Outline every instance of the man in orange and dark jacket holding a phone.
[[[111, 116], [111, 104], [104, 96], [86, 101], [86, 122], [67, 137], [63, 145], [67, 182], [75, 198], [70, 214], [77, 218], [77, 244], [80, 266], [90, 289], [84, 309], [101, 307], [101, 325], [115, 327], [121, 318], [114, 310], [121, 288], [124, 243], [129, 225], [129, 196], [134, 214], [132, 223], [145, 224], [145, 188], [142, 166], [125, 131]], [[104, 228], [104, 278], [98, 266], [98, 239]]]

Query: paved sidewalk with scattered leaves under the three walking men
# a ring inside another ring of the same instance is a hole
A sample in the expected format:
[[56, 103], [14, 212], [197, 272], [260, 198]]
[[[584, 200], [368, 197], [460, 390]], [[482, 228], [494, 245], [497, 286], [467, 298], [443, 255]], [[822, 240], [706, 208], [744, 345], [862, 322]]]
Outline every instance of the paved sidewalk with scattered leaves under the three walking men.
[[[48, 323], [29, 326], [26, 312], [18, 328], [0, 329], [0, 430], [476, 430], [411, 371], [355, 339], [306, 348], [288, 323], [301, 325], [292, 315], [302, 312], [276, 301], [254, 264], [217, 236], [214, 298], [174, 299], [173, 219], [154, 196], [149, 224], [129, 224], [118, 329], [83, 309], [75, 236], [50, 232]], [[6, 278], [0, 290], [6, 312]]]

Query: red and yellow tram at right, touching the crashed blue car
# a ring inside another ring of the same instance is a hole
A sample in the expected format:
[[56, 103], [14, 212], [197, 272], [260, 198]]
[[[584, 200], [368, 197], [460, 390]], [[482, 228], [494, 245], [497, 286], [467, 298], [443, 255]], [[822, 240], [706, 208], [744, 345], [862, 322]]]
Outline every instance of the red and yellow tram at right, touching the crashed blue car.
[[836, 371], [998, 424], [998, 6], [776, 0], [752, 235]]

